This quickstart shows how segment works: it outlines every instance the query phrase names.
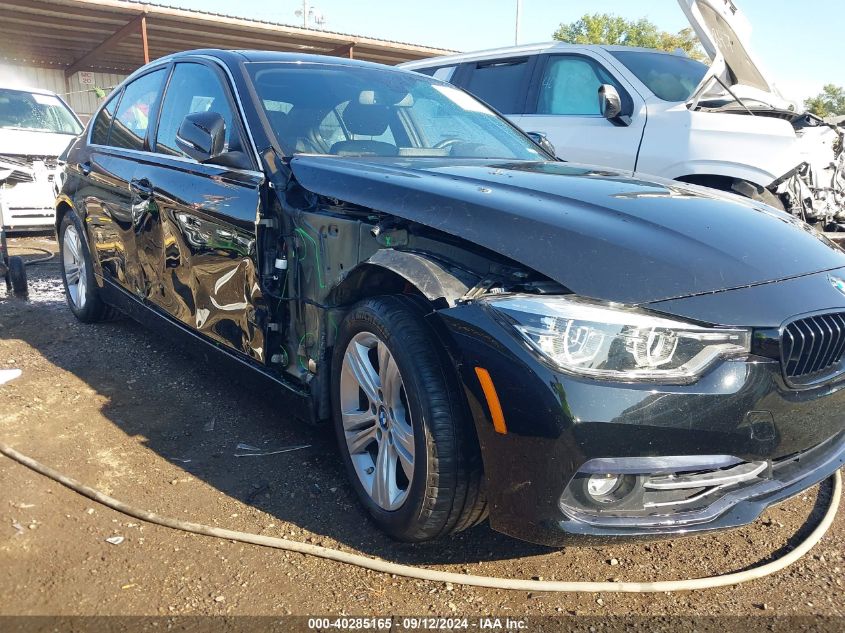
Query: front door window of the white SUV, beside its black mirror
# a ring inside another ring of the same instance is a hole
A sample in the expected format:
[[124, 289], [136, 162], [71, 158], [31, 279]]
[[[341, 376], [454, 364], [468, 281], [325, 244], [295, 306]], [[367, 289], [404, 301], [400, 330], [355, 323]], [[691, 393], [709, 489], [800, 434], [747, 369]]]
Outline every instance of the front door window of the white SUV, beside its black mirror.
[[625, 92], [604, 68], [587, 57], [552, 57], [540, 84], [537, 114], [600, 116], [602, 84], [615, 86], [620, 94]]

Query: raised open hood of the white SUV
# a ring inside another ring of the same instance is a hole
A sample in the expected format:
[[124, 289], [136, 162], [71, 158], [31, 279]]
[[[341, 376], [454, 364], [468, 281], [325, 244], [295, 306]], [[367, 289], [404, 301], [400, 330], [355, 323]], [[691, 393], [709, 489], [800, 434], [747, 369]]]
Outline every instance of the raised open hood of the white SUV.
[[[774, 101], [771, 105], [777, 107], [784, 105], [773, 79], [751, 51], [751, 23], [733, 0], [678, 0], [678, 4], [713, 60], [693, 100], [713, 87], [713, 78], [718, 77], [740, 97]], [[721, 87], [716, 84], [715, 89]]]

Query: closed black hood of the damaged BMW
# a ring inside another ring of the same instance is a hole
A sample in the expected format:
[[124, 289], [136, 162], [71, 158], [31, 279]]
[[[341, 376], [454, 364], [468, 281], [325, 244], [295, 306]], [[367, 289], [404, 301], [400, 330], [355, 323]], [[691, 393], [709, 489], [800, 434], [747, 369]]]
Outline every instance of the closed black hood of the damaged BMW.
[[309, 191], [461, 237], [597, 299], [648, 303], [845, 266], [788, 214], [597, 167], [298, 155], [291, 168]]

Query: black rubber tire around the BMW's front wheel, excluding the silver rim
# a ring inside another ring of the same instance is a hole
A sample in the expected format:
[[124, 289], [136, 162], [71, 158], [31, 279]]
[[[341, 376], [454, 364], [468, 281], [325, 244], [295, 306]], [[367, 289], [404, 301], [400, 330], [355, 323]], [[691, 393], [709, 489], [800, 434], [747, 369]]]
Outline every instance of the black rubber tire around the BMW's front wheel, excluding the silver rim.
[[[383, 341], [401, 374], [414, 431], [414, 476], [405, 501], [388, 511], [364, 489], [347, 447], [340, 406], [344, 353], [357, 334]], [[340, 325], [332, 360], [332, 409], [352, 486], [378, 526], [393, 538], [422, 542], [472, 527], [487, 516], [481, 456], [457, 378], [408, 297], [366, 299]], [[419, 457], [416, 457], [419, 456]]]

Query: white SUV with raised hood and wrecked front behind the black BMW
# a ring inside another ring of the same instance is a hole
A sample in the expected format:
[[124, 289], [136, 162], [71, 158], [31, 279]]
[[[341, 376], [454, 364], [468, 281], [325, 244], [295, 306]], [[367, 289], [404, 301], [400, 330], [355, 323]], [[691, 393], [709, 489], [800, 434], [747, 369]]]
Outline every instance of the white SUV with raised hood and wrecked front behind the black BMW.
[[565, 160], [732, 191], [845, 230], [845, 128], [784, 99], [731, 0], [678, 2], [709, 67], [683, 54], [562, 43], [403, 66], [480, 97]]

